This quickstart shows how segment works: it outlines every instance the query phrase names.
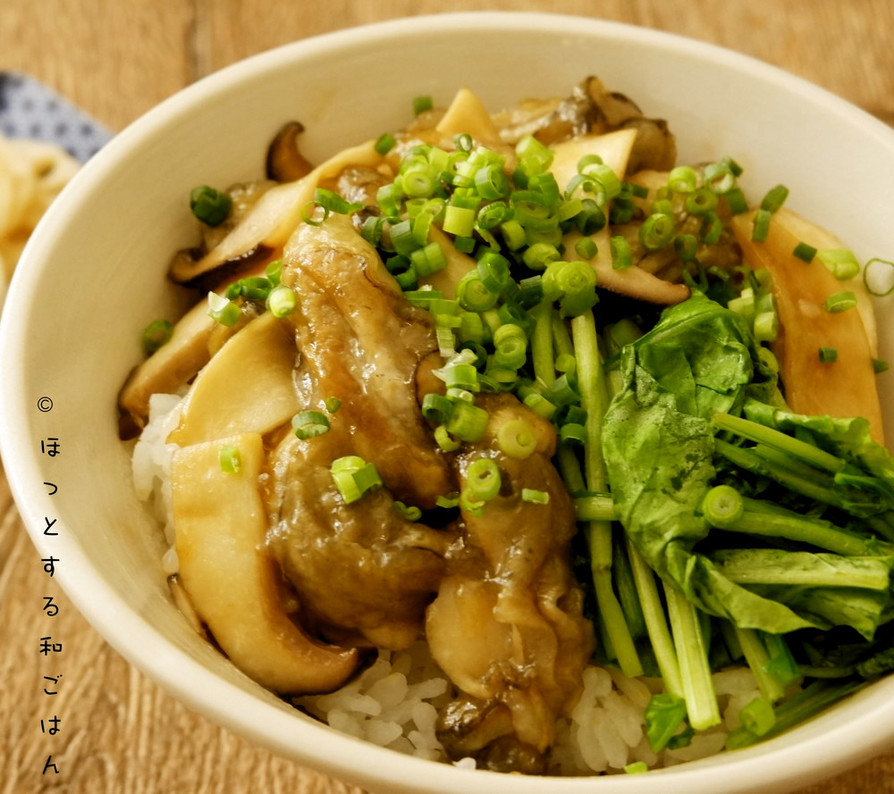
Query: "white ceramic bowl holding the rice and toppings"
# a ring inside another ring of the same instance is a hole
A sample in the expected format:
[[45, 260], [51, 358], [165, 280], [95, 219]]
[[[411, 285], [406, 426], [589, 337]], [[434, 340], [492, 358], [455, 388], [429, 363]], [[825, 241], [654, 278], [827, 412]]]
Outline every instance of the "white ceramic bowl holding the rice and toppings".
[[[410, 46], [412, 44], [412, 47]], [[299, 118], [319, 160], [408, 120], [412, 97], [461, 85], [493, 109], [600, 76], [664, 117], [680, 160], [735, 157], [753, 194], [789, 204], [863, 258], [890, 255], [894, 133], [779, 70], [674, 36], [568, 16], [421, 17], [256, 56], [170, 98], [109, 143], [40, 224], [2, 318], [2, 452], [41, 556], [96, 629], [174, 696], [285, 756], [376, 792], [781, 792], [894, 740], [894, 678], [753, 749], [667, 771], [597, 779], [501, 776], [397, 755], [322, 727], [237, 673], [171, 602], [162, 542], [134, 496], [115, 398], [141, 329], [170, 307], [171, 252], [193, 242], [184, 196], [261, 173], [271, 135]], [[846, 197], [846, 198], [841, 198]], [[894, 322], [881, 311], [882, 351]], [[894, 430], [888, 389], [887, 420]], [[50, 410], [50, 401], [52, 407]], [[58, 439], [59, 453], [41, 442]], [[49, 486], [58, 486], [50, 495]], [[57, 537], [43, 534], [58, 519]], [[147, 770], [151, 773], [151, 770]]]

